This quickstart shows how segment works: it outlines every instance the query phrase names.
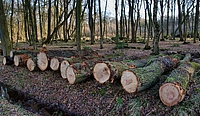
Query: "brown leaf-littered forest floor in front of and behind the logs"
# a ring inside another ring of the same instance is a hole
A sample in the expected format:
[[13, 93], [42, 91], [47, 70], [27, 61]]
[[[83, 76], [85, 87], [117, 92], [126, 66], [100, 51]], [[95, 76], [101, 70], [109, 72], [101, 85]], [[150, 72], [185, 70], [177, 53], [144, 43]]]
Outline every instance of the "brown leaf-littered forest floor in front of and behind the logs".
[[[191, 53], [192, 60], [200, 63], [200, 42], [195, 44], [192, 42], [189, 44], [182, 43], [176, 40], [160, 42], [160, 53], [162, 55]], [[85, 50], [92, 49], [99, 55], [110, 55], [122, 60], [124, 58], [130, 60], [148, 58], [152, 52], [151, 50], [143, 50], [144, 44], [141, 43], [129, 43], [130, 48], [124, 49], [113, 49], [115, 44], [104, 44], [103, 46], [104, 49], [99, 49], [99, 44], [83, 43]], [[21, 49], [28, 47], [27, 44], [20, 43]], [[59, 42], [47, 45], [47, 49], [56, 50], [52, 54], [58, 54], [58, 51], [75, 51], [76, 46], [73, 46], [72, 43]], [[74, 53], [71, 55], [73, 56]], [[7, 102], [1, 98], [1, 104], [6, 105], [0, 105], [0, 115], [6, 115], [5, 112], [8, 111], [8, 114], [14, 112], [15, 115], [22, 115], [22, 110], [19, 110], [19, 107], [31, 111], [28, 111], [29, 115], [47, 116], [200, 115], [200, 69], [190, 79], [184, 100], [175, 106], [167, 107], [161, 102], [158, 89], [169, 73], [160, 77], [160, 81], [155, 86], [142, 92], [130, 94], [122, 88], [119, 81], [100, 84], [94, 78], [90, 78], [82, 83], [70, 85], [67, 80], [61, 78], [59, 72], [51, 70], [30, 72], [25, 66], [4, 66], [2, 65], [2, 58], [3, 56], [0, 56], [0, 82], [15, 90], [10, 92], [8, 90], [10, 97], [18, 97], [19, 99]], [[26, 100], [21, 100], [20, 97], [26, 97]], [[22, 102], [25, 102], [25, 104]], [[13, 108], [7, 109], [9, 103], [14, 103], [14, 105], [11, 104]], [[58, 108], [65, 113], [56, 110]]]

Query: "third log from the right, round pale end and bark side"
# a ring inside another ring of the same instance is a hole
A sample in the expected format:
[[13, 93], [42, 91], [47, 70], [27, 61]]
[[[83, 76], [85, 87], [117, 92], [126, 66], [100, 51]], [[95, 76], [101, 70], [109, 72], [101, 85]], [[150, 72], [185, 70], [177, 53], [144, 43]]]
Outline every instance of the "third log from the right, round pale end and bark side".
[[121, 62], [101, 62], [96, 63], [93, 68], [93, 76], [99, 83], [111, 82], [119, 78], [122, 71], [128, 69], [129, 66]]

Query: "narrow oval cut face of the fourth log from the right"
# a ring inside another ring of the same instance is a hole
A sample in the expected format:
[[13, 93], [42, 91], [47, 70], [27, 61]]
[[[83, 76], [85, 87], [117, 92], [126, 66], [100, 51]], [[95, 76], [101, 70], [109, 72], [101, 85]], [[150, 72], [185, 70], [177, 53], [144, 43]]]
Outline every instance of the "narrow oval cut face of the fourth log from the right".
[[68, 79], [70, 84], [74, 84], [75, 83], [76, 75], [75, 75], [74, 69], [73, 69], [73, 67], [71, 65], [67, 67], [66, 77], [67, 77], [67, 79]]

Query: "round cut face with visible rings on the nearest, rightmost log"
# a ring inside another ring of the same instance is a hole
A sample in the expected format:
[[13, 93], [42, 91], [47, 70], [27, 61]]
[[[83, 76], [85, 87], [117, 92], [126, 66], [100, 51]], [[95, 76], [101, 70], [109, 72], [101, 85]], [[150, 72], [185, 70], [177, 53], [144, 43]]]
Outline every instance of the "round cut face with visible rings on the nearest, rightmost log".
[[165, 83], [159, 89], [159, 96], [163, 104], [167, 106], [176, 105], [182, 100], [180, 87], [174, 83]]

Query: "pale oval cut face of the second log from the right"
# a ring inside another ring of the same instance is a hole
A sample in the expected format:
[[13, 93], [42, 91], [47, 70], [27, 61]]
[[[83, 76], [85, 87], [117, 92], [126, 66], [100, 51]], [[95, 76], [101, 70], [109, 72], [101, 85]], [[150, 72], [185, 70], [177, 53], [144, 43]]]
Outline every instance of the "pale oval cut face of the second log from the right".
[[130, 70], [122, 72], [121, 84], [128, 93], [134, 93], [138, 88], [138, 77]]

